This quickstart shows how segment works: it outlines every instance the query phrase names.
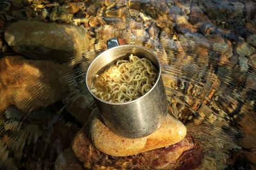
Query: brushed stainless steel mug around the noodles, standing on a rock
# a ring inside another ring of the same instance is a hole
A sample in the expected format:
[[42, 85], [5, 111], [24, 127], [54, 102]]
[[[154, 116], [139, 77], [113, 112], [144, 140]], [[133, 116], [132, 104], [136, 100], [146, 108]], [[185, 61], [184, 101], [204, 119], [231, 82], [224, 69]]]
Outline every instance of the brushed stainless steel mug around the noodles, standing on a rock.
[[[113, 46], [113, 42], [115, 43], [116, 39], [108, 41], [108, 46]], [[95, 96], [91, 90], [95, 74], [114, 60], [125, 56], [128, 58], [130, 54], [146, 57], [157, 67], [159, 74], [152, 89], [138, 99], [126, 103], [110, 103]], [[88, 67], [86, 86], [106, 126], [115, 134], [125, 138], [141, 138], [151, 134], [160, 127], [168, 113], [160, 62], [154, 53], [143, 46], [120, 45], [100, 53]]]

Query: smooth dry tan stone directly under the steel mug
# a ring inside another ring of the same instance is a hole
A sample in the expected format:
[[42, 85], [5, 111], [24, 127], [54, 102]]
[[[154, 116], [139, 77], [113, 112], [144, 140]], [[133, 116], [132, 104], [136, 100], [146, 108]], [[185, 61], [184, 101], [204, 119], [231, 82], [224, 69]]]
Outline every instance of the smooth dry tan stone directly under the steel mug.
[[186, 127], [169, 115], [166, 122], [149, 136], [138, 139], [124, 138], [111, 132], [99, 119], [98, 114], [100, 115], [99, 112], [94, 113], [90, 122], [92, 143], [100, 152], [114, 157], [126, 157], [173, 145], [186, 136]]

